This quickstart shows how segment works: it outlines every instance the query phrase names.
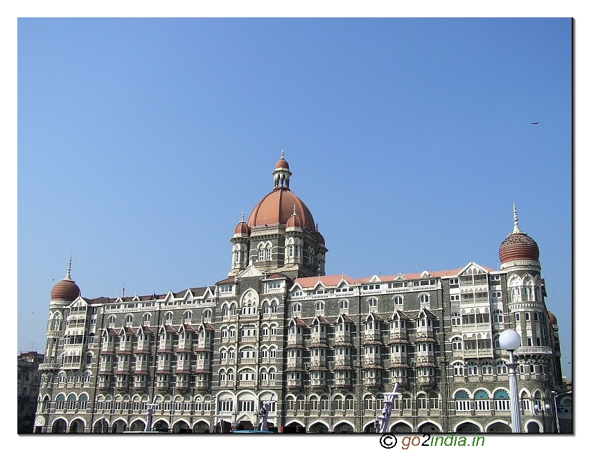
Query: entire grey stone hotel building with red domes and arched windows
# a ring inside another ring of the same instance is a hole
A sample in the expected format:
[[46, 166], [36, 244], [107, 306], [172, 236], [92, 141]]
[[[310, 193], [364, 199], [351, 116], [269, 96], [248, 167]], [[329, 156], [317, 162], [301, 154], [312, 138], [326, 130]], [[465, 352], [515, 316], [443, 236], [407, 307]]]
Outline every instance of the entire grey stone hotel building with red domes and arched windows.
[[[87, 298], [70, 260], [51, 291], [35, 432], [143, 431], [155, 404], [152, 429], [227, 433], [256, 428], [272, 399], [270, 426], [371, 433], [396, 383], [391, 433], [509, 433], [513, 401], [525, 432], [554, 431], [554, 408], [543, 420], [535, 406], [555, 401], [570, 421], [570, 396], [552, 393], [566, 386], [540, 251], [515, 205], [498, 270], [326, 275], [325, 240], [291, 176], [282, 155], [214, 286]], [[522, 336], [517, 398], [507, 328]]]

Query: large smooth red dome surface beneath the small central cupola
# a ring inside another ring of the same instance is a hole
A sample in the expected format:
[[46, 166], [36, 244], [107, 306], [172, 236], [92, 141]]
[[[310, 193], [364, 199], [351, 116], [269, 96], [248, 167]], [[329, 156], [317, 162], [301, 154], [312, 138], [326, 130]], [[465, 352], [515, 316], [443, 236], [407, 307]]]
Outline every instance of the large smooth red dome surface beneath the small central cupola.
[[249, 215], [247, 226], [251, 229], [264, 225], [286, 225], [294, 205], [297, 205], [297, 216], [301, 220], [301, 228], [315, 232], [315, 220], [308, 207], [290, 189], [276, 187], [256, 205]]

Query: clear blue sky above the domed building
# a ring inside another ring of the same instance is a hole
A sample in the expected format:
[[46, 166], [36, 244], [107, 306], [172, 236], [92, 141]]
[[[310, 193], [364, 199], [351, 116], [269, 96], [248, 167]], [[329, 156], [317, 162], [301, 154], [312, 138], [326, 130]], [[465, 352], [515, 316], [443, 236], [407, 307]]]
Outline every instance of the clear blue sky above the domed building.
[[[572, 375], [570, 19], [19, 19], [18, 349], [52, 286], [180, 291], [290, 187], [352, 277], [540, 246]], [[531, 122], [539, 121], [537, 126]]]

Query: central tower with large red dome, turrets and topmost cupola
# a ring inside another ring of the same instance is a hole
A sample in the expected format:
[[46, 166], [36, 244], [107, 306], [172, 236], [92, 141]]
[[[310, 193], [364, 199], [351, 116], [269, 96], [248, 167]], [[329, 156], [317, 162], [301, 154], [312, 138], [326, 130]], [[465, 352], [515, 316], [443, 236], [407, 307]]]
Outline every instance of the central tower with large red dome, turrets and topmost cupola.
[[290, 190], [292, 172], [284, 152], [272, 172], [274, 189], [242, 216], [231, 239], [229, 276], [247, 266], [281, 272], [291, 279], [325, 275], [325, 239], [307, 205]]

